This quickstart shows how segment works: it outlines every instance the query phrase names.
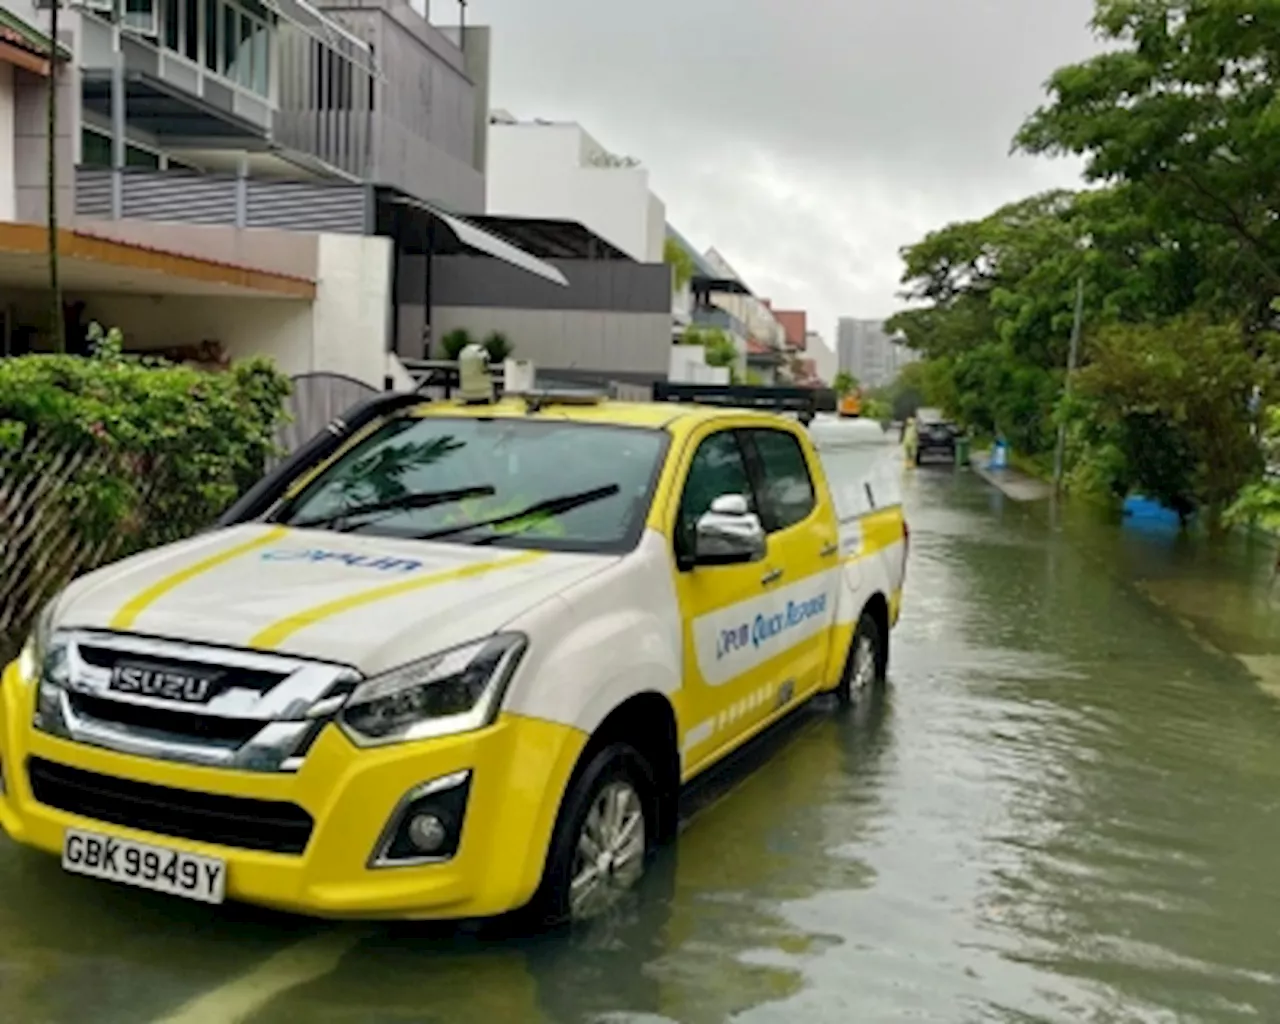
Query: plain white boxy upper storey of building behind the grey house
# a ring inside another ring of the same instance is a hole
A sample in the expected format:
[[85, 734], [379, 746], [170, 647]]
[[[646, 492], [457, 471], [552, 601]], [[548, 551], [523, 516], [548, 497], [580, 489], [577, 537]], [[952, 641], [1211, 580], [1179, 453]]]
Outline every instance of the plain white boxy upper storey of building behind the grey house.
[[640, 161], [576, 122], [489, 119], [486, 211], [577, 221], [639, 262], [662, 262], [667, 207]]

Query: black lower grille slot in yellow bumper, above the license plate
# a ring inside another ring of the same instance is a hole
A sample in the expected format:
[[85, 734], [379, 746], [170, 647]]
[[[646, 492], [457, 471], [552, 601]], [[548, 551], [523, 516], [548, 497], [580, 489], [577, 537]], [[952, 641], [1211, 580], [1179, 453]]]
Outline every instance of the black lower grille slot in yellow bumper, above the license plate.
[[46, 806], [159, 836], [301, 854], [315, 826], [297, 804], [173, 790], [84, 772], [44, 758], [27, 760], [27, 776], [32, 795]]

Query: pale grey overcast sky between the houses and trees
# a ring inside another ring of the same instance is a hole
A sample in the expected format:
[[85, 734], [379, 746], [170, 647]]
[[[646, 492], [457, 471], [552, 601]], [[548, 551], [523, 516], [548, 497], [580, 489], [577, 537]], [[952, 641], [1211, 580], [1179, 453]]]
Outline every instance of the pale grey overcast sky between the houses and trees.
[[[1009, 156], [1091, 0], [470, 0], [493, 27], [493, 105], [577, 120], [653, 174], [667, 218], [753, 291], [882, 317], [899, 248], [1078, 182]], [[456, 18], [433, 0], [433, 18]], [[815, 323], [814, 323], [815, 321]]]

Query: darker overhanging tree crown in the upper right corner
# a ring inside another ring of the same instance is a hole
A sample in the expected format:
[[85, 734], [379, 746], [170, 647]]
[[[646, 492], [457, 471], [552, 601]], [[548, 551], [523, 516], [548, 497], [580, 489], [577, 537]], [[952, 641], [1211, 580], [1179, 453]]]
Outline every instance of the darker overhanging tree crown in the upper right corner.
[[[1267, 326], [1280, 287], [1280, 6], [1097, 0], [1107, 51], [1059, 69], [1016, 145], [1074, 154], [1210, 261], [1199, 300]], [[1194, 229], [1194, 230], [1189, 230]]]

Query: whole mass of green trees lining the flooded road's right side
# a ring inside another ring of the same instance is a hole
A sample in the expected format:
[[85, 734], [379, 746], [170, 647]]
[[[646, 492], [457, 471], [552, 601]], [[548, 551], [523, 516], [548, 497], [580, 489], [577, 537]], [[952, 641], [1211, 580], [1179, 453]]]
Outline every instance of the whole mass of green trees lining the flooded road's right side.
[[906, 248], [913, 308], [888, 328], [931, 404], [1028, 454], [1065, 424], [1075, 488], [1216, 520], [1258, 480], [1249, 398], [1276, 390], [1280, 5], [1096, 0], [1093, 27], [1107, 50], [1055, 72], [1015, 138], [1083, 156], [1091, 187]]

